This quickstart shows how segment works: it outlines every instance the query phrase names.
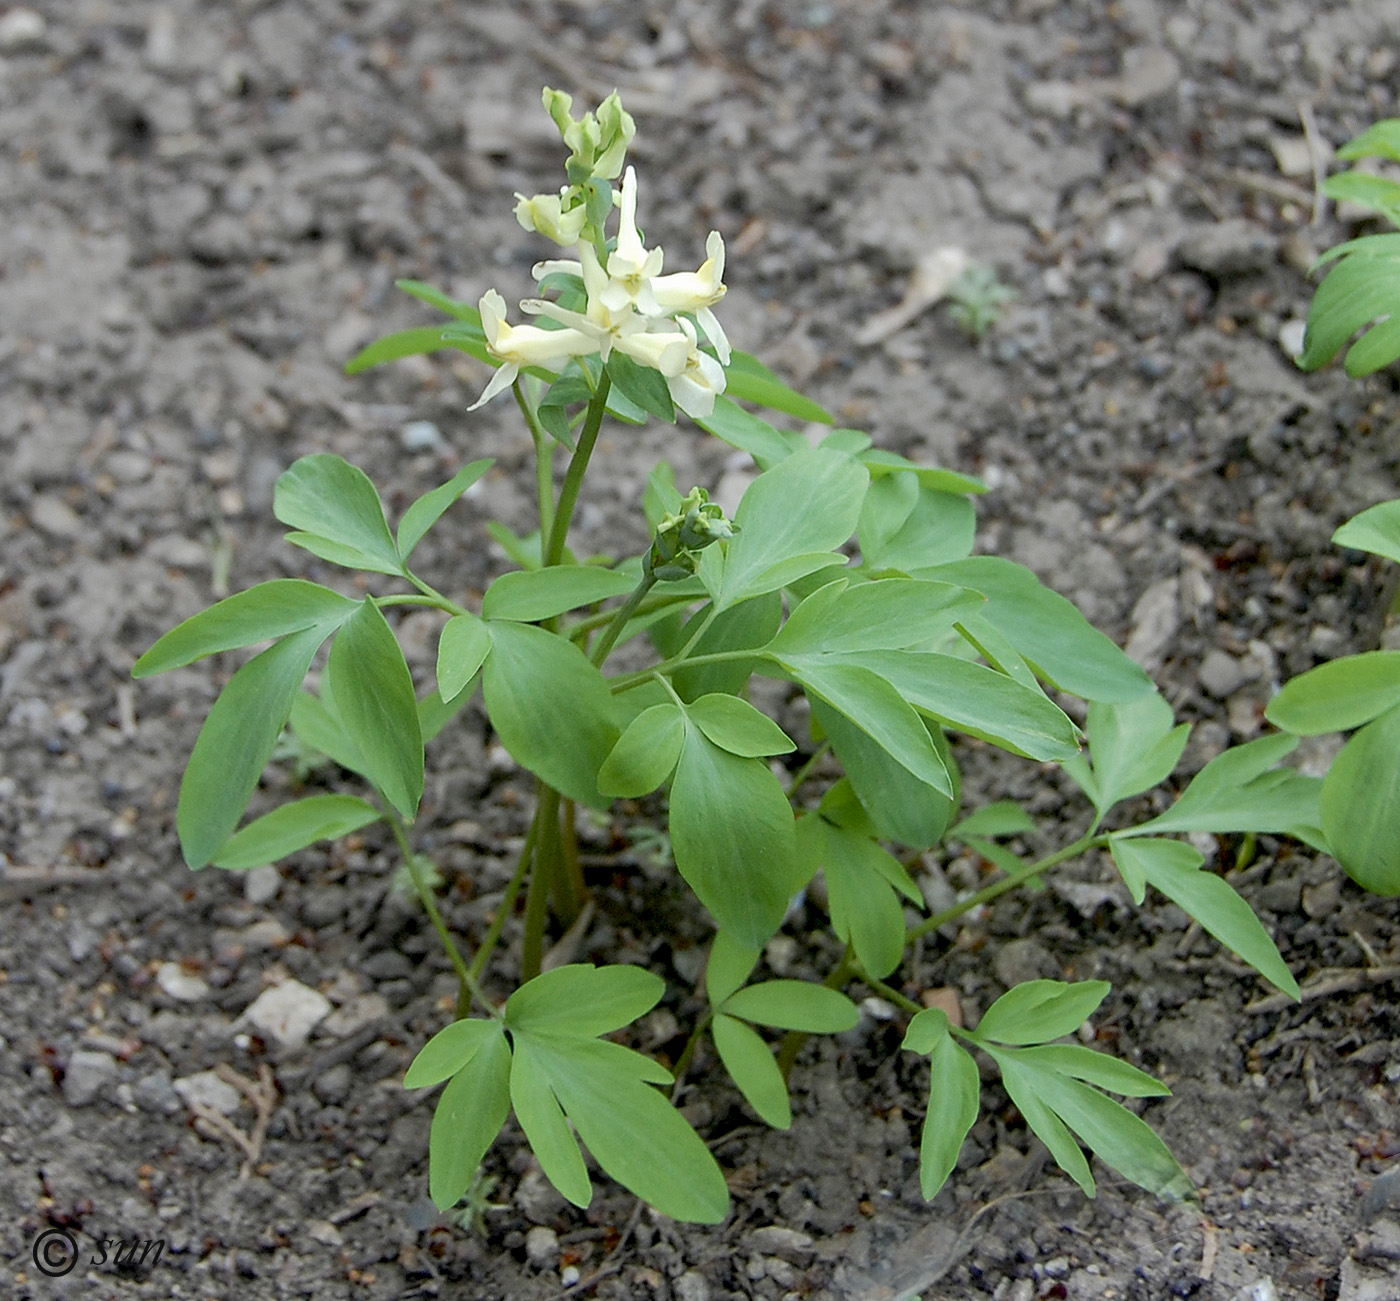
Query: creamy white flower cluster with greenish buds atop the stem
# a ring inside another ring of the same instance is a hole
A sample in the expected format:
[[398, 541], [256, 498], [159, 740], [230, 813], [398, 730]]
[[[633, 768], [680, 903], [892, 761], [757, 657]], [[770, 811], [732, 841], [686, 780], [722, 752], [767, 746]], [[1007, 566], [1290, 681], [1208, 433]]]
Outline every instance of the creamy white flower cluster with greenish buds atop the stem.
[[[524, 367], [559, 371], [574, 357], [594, 354], [606, 364], [615, 349], [658, 371], [672, 402], [687, 416], [708, 416], [724, 392], [729, 340], [713, 311], [725, 293], [724, 239], [718, 231], [710, 232], [699, 270], [661, 273], [662, 249], [648, 249], [637, 230], [636, 172], [626, 169], [616, 195], [608, 185], [622, 168], [633, 133], [631, 119], [615, 101], [610, 95], [598, 118], [588, 113], [580, 122], [568, 115], [567, 95], [545, 92], [545, 106], [573, 151], [571, 183], [559, 195], [519, 196], [515, 216], [526, 230], [575, 246], [574, 258], [538, 262], [532, 274], [538, 281], [570, 276], [582, 284], [587, 301], [580, 311], [526, 298], [521, 309], [549, 323], [511, 325], [505, 300], [489, 290], [480, 302], [482, 329], [487, 350], [501, 366], [473, 410], [514, 384]], [[617, 234], [608, 241], [602, 225], [615, 204]], [[700, 346], [701, 335], [713, 354]]]

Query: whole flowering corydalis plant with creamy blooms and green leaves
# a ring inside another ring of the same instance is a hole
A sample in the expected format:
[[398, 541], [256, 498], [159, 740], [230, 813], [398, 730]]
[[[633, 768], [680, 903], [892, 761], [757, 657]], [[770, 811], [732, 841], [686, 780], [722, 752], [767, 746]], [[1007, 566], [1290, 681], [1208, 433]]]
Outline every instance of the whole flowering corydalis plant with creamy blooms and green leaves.
[[[1165, 1088], [1082, 1045], [1053, 1042], [1095, 1013], [1106, 983], [1029, 982], [967, 1029], [925, 1010], [913, 997], [918, 986], [896, 973], [911, 955], [935, 961], [946, 923], [1102, 849], [1138, 902], [1149, 885], [1161, 891], [1295, 993], [1254, 914], [1173, 836], [1310, 826], [1317, 783], [1275, 769], [1292, 742], [1270, 738], [1208, 765], [1151, 822], [1105, 829], [1121, 801], [1170, 776], [1186, 744], [1145, 674], [1029, 570], [972, 555], [977, 480], [879, 451], [858, 430], [834, 429], [812, 445], [739, 406], [833, 423], [731, 350], [714, 315], [724, 294], [718, 234], [696, 272], [666, 273], [662, 252], [647, 248], [626, 167], [633, 125], [616, 97], [582, 119], [564, 95], [546, 91], [545, 104], [570, 148], [568, 183], [521, 197], [517, 216], [574, 256], [536, 266], [540, 291], [554, 297], [521, 307], [540, 323], [508, 323], [494, 291], [473, 308], [403, 281], [448, 321], [391, 335], [350, 364], [358, 371], [455, 347], [493, 367], [476, 405], [514, 394], [536, 451], [538, 528], [521, 536], [490, 525], [517, 569], [469, 609], [410, 562], [490, 462], [475, 461], [426, 493], [393, 529], [361, 471], [330, 455], [295, 462], [273, 503], [290, 541], [398, 588], [347, 597], [298, 578], [265, 583], [140, 658], [139, 676], [273, 643], [232, 675], [195, 745], [176, 819], [186, 860], [245, 868], [372, 823], [388, 828], [459, 982], [456, 1018], [405, 1080], [445, 1084], [430, 1141], [430, 1188], [442, 1207], [473, 1186], [514, 1113], [545, 1174], [578, 1206], [592, 1195], [581, 1141], [606, 1174], [666, 1214], [721, 1220], [724, 1176], [672, 1105], [690, 1062], [713, 1045], [753, 1111], [785, 1127], [802, 1039], [855, 1024], [843, 993], [853, 983], [913, 1014], [904, 1045], [930, 1060], [927, 1196], [951, 1174], [980, 1111], [973, 1053], [1000, 1071], [1026, 1123], [1085, 1192], [1095, 1183], [1079, 1143], [1154, 1192], [1187, 1196], [1190, 1183], [1161, 1140], [1109, 1097]], [[641, 503], [648, 548], [580, 563], [570, 524], [603, 422], [675, 422], [678, 409], [756, 462], [760, 473], [734, 518], [704, 489], [682, 494], [661, 465]], [[560, 450], [568, 459], [556, 485]], [[388, 616], [402, 605], [445, 616], [433, 682], [414, 682], [399, 647]], [[312, 693], [302, 683], [326, 641]], [[637, 651], [629, 662], [645, 667], [612, 671], [626, 643]], [[755, 676], [805, 695], [805, 753], [749, 702]], [[1091, 702], [1092, 762], [1046, 685]], [[494, 920], [468, 956], [438, 907], [413, 822], [424, 746], [477, 686], [501, 744], [535, 776], [536, 798]], [[308, 752], [321, 752], [363, 777], [371, 798], [312, 794], [239, 825], [288, 725], [304, 770], [314, 770]], [[1093, 805], [1092, 825], [1043, 858], [1021, 857], [1016, 837], [1035, 825], [1015, 805], [959, 816], [945, 730], [1063, 763]], [[665, 996], [658, 975], [629, 965], [546, 970], [543, 962], [550, 926], [575, 926], [588, 895], [575, 807], [609, 809], [616, 798], [654, 793], [665, 795], [676, 870], [717, 924], [696, 990], [700, 1011], [675, 1062], [613, 1038]], [[953, 843], [998, 875], [930, 916], [910, 871]], [[764, 947], [785, 923], [801, 928], [812, 906], [794, 900], [818, 872], [841, 958], [820, 985], [763, 978]], [[493, 961], [507, 928], [510, 961]], [[494, 993], [503, 987], [504, 1000]], [[784, 1032], [777, 1052], [770, 1029]]]

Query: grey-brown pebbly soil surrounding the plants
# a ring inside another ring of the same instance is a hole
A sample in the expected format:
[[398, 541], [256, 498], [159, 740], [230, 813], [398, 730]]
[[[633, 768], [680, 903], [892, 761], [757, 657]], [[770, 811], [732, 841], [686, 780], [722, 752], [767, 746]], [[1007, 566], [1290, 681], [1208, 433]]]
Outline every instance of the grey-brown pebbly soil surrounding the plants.
[[[507, 567], [484, 524], [525, 522], [529, 444], [505, 402], [465, 415], [484, 368], [342, 367], [428, 319], [395, 279], [473, 301], [528, 291], [542, 249], [511, 196], [557, 185], [561, 160], [539, 87], [591, 104], [616, 85], [638, 123], [643, 221], [672, 266], [721, 230], [738, 346], [879, 445], [986, 479], [980, 546], [1072, 597], [1196, 724], [1179, 787], [1261, 734], [1280, 681], [1393, 636], [1382, 567], [1329, 538], [1396, 496], [1394, 380], [1302, 375], [1287, 345], [1306, 267], [1357, 230], [1315, 204], [1313, 169], [1396, 112], [1397, 29], [1396, 0], [7, 7], [0, 1290], [1400, 1297], [1400, 1179], [1386, 1175], [1400, 1015], [1385, 983], [1400, 906], [1327, 858], [1273, 837], [1253, 857], [1236, 837], [1201, 844], [1298, 978], [1323, 982], [1301, 1006], [1273, 1001], [1177, 909], [1133, 910], [1095, 860], [1001, 900], [907, 973], [955, 990], [966, 1015], [1026, 976], [1110, 979], [1099, 1038], [1172, 1085], [1147, 1115], [1200, 1210], [1102, 1168], [1084, 1199], [993, 1081], [962, 1169], [925, 1204], [927, 1077], [897, 1050], [900, 1021], [871, 1004], [804, 1055], [788, 1133], [756, 1125], [701, 1056], [685, 1102], [731, 1179], [724, 1225], [636, 1213], [602, 1178], [589, 1211], [568, 1209], [508, 1127], [487, 1162], [500, 1209], [463, 1228], [426, 1199], [433, 1097], [399, 1083], [452, 979], [391, 884], [392, 846], [367, 835], [276, 871], [192, 878], [175, 795], [237, 661], [129, 676], [216, 597], [342, 581], [272, 518], [273, 480], [307, 452], [363, 465], [395, 508], [496, 457], [420, 559], [469, 601]], [[979, 343], [935, 305], [862, 342], [944, 246], [1015, 287], [1000, 326]], [[643, 543], [658, 455], [683, 483], [732, 489], [746, 472], [686, 426], [612, 434], [582, 549]], [[435, 626], [400, 626], [416, 667]], [[966, 744], [959, 756], [974, 800], [1036, 812], [1025, 849], [1086, 825], [1053, 772]], [[273, 773], [259, 807], [290, 780]], [[472, 706], [434, 752], [419, 826], [468, 935], [528, 811], [528, 783]], [[703, 924], [615, 828], [589, 836], [599, 920], [580, 956], [668, 978], [644, 1025], [665, 1050], [697, 1006]], [[931, 865], [955, 885], [977, 872]], [[799, 976], [829, 961], [795, 944], [769, 955]], [[333, 1008], [304, 1046], [245, 1018], [286, 980]], [[80, 1244], [63, 1279], [31, 1259], [55, 1228]], [[113, 1239], [162, 1253], [119, 1270]]]

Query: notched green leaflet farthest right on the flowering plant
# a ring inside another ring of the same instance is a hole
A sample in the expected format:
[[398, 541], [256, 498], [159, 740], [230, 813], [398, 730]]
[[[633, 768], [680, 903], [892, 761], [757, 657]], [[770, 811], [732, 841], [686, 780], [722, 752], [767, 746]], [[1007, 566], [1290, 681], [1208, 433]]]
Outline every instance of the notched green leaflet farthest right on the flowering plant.
[[1217, 755], [1165, 814], [1123, 832], [1282, 832], [1317, 825], [1322, 781], [1292, 769], [1270, 772], [1298, 746], [1291, 735], [1261, 737]]

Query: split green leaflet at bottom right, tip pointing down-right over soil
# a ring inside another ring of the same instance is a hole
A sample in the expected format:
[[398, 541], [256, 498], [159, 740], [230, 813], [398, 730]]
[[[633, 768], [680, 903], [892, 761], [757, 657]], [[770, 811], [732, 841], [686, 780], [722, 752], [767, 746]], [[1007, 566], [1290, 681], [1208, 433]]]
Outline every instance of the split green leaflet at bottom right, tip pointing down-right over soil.
[[[1033, 1099], [1030, 1105], [1037, 1118], [1043, 1119], [1051, 1113], [1068, 1123], [1105, 1165], [1131, 1179], [1138, 1188], [1172, 1202], [1194, 1196], [1191, 1181], [1145, 1122], [1096, 1088], [1060, 1074], [1043, 1057], [1037, 1057], [1036, 1052], [1036, 1049], [1022, 1052], [1002, 1049], [993, 1050], [993, 1057], [1001, 1067], [1001, 1078], [1011, 1101], [1042, 1139], [1046, 1139], [1046, 1134], [1032, 1120], [1032, 1113], [1022, 1105], [1023, 1099]], [[1057, 1139], [1061, 1136], [1057, 1134]], [[1070, 1158], [1075, 1167], [1071, 1169], [1065, 1165], [1064, 1157], [1068, 1153], [1064, 1151], [1063, 1140], [1061, 1150], [1056, 1150], [1049, 1141], [1046, 1146], [1050, 1147], [1056, 1161], [1092, 1197], [1093, 1179], [1078, 1147], [1075, 1147], [1078, 1160]]]

